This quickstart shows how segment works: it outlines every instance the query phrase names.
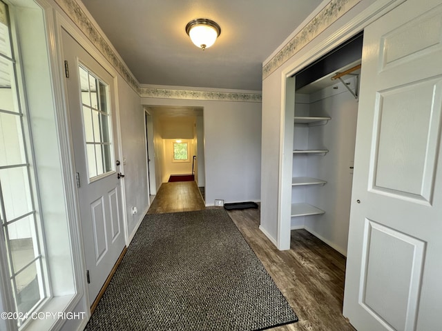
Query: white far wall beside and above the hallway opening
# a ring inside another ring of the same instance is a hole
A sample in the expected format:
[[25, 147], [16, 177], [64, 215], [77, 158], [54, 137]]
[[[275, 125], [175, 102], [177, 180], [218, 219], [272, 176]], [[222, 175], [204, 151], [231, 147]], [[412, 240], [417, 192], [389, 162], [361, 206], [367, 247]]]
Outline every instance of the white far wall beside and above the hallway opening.
[[260, 201], [261, 103], [142, 98], [142, 104], [204, 108], [206, 205]]

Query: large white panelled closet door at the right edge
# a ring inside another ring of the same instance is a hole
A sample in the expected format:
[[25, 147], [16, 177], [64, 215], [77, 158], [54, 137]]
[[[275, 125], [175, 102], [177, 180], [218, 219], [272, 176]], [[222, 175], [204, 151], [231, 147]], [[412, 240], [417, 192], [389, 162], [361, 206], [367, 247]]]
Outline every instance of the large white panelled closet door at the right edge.
[[359, 331], [442, 330], [441, 3], [364, 32], [343, 310]]

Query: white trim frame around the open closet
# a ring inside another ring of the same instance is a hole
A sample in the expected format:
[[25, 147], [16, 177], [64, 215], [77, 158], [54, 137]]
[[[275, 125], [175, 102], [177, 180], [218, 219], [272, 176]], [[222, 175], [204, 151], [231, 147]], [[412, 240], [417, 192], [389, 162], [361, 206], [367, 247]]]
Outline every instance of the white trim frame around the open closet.
[[[278, 250], [290, 249], [291, 215], [290, 204], [287, 208], [287, 201], [291, 201], [291, 139], [293, 139], [293, 129], [287, 128], [287, 123], [293, 123], [293, 111], [289, 111], [289, 106], [294, 100], [294, 79], [291, 78], [296, 72], [305, 68], [310, 63], [316, 61], [327, 54], [341, 43], [345, 42], [355, 34], [361, 32], [366, 26], [376, 21], [383, 14], [396, 8], [405, 0], [377, 0], [367, 7], [354, 19], [350, 20], [343, 28], [332, 34], [322, 43], [311, 48], [302, 56], [298, 57], [291, 66], [282, 70], [281, 74], [281, 105], [280, 105], [280, 152], [279, 152], [279, 172], [278, 172], [278, 230], [276, 237], [276, 247]], [[286, 114], [287, 108], [287, 114]], [[287, 116], [286, 116], [287, 115]], [[289, 154], [287, 154], [287, 150]], [[287, 181], [287, 178], [290, 180]]]

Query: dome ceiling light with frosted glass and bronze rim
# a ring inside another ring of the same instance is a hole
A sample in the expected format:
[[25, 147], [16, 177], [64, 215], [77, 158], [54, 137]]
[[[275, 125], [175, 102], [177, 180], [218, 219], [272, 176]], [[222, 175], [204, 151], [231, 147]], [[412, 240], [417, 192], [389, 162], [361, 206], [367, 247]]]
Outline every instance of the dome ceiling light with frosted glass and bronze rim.
[[215, 43], [221, 34], [221, 28], [211, 19], [194, 19], [187, 23], [186, 33], [195, 46], [205, 50]]

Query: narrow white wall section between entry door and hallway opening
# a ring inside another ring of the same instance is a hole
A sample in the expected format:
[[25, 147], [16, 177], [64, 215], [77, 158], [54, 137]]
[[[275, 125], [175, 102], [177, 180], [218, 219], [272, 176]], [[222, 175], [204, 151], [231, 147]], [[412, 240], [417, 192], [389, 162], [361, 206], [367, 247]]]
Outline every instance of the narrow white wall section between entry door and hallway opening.
[[[128, 237], [132, 238], [149, 208], [144, 110], [140, 95], [119, 75], [117, 93], [123, 157], [117, 170], [124, 174], [127, 230]], [[133, 207], [137, 208], [137, 214], [132, 214]]]

